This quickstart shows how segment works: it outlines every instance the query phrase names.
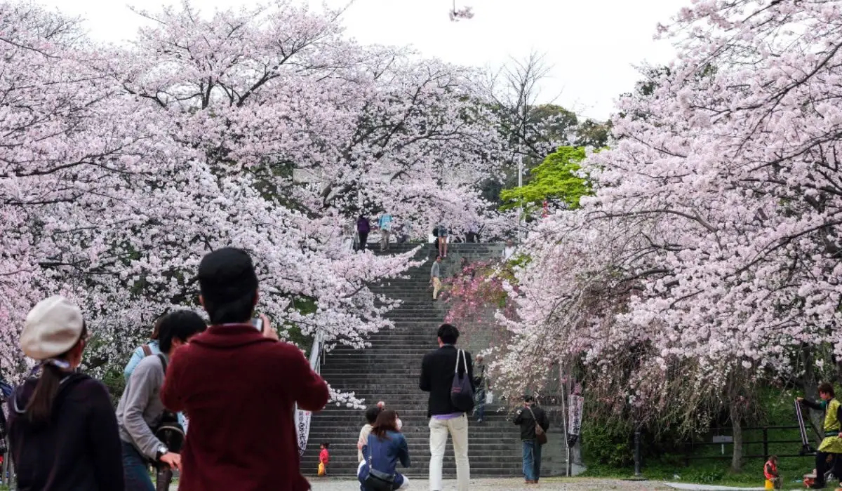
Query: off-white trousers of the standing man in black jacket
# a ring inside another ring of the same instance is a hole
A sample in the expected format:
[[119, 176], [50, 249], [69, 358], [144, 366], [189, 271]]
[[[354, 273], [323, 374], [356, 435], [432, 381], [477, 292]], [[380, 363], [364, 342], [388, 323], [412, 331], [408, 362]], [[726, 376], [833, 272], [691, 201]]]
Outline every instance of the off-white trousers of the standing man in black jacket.
[[453, 440], [456, 457], [456, 490], [468, 491], [471, 467], [468, 463], [468, 418], [462, 414], [453, 419], [429, 419], [429, 488], [442, 491], [441, 467], [445, 463], [447, 435]]

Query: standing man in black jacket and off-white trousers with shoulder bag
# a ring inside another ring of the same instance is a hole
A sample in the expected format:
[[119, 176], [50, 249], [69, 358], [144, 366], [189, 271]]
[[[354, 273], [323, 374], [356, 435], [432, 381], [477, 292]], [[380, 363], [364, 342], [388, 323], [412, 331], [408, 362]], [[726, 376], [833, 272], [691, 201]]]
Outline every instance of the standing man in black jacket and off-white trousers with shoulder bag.
[[[427, 416], [429, 417], [429, 488], [441, 491], [441, 467], [445, 461], [447, 435], [453, 440], [453, 453], [456, 457], [456, 489], [468, 491], [471, 468], [468, 464], [468, 419], [464, 410], [454, 407], [450, 401], [450, 388], [456, 374], [456, 340], [459, 329], [450, 324], [441, 324], [438, 332], [439, 349], [424, 355], [421, 362], [421, 390], [429, 392]], [[467, 371], [471, 387], [473, 382], [473, 362], [471, 354], [463, 352], [459, 356], [459, 371]]]

